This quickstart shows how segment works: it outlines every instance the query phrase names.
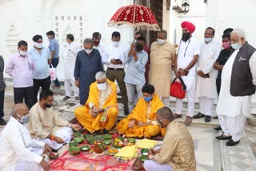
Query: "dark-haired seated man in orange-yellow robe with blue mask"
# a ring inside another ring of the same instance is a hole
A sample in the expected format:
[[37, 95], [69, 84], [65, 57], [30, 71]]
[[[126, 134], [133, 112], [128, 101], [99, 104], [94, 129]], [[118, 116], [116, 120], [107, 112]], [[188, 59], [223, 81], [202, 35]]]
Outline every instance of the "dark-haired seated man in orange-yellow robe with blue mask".
[[154, 93], [154, 86], [146, 84], [142, 87], [142, 94], [133, 111], [122, 119], [116, 127], [118, 133], [126, 137], [152, 137], [159, 133], [164, 135], [162, 129], [156, 121], [156, 112], [164, 105], [157, 94]]

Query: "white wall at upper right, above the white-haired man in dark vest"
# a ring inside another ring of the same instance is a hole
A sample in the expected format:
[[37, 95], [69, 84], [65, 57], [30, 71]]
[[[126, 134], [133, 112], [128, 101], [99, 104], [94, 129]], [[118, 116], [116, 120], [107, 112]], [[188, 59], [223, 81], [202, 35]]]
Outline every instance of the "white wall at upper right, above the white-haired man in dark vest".
[[241, 28], [246, 31], [248, 42], [256, 47], [255, 7], [255, 0], [208, 0], [206, 23], [214, 26], [219, 42], [226, 28]]

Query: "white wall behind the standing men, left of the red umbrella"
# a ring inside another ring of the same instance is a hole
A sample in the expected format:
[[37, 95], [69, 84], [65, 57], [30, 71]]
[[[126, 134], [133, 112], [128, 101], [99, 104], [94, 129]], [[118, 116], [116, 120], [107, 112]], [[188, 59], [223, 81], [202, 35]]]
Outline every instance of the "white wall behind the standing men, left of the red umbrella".
[[[74, 34], [82, 45], [84, 38], [91, 38], [94, 31], [102, 34], [102, 44], [110, 43], [111, 34], [118, 30], [121, 41], [130, 44], [134, 30], [130, 26], [107, 26], [118, 8], [132, 4], [133, 0], [1, 0], [0, 1], [0, 54], [5, 62], [17, 52], [20, 40], [33, 46], [32, 37], [41, 34], [44, 46], [49, 42], [46, 32], [54, 30], [60, 44], [58, 78], [63, 79], [62, 52], [66, 34]], [[5, 75], [5, 77], [7, 77]]]

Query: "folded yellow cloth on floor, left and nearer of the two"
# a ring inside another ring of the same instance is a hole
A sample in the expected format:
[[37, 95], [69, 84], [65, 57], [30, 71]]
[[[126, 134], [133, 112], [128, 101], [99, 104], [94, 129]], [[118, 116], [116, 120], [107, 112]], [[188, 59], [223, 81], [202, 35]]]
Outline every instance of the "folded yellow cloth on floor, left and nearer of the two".
[[120, 149], [117, 154], [114, 155], [114, 157], [117, 157], [117, 158], [121, 157], [122, 160], [131, 160], [137, 156], [138, 156], [137, 145], [125, 146], [122, 149]]

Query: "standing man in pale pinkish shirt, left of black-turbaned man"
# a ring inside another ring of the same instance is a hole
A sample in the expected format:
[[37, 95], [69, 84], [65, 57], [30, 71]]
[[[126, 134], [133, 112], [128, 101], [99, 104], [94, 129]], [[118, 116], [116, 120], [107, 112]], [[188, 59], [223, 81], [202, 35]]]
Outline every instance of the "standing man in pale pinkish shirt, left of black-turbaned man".
[[29, 109], [33, 103], [33, 62], [27, 54], [27, 42], [18, 42], [18, 54], [10, 57], [6, 64], [6, 74], [13, 78], [14, 83], [14, 103], [25, 103]]

